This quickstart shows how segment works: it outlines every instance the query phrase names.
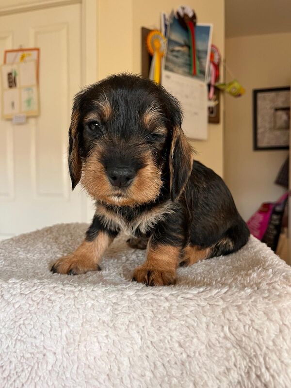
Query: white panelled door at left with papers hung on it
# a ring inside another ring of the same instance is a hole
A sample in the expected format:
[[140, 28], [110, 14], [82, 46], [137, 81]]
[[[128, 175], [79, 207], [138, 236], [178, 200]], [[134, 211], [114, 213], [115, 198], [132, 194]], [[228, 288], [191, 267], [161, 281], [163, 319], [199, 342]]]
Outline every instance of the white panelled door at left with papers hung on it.
[[0, 121], [0, 238], [86, 219], [71, 192], [67, 132], [81, 85], [81, 5], [0, 16], [4, 49], [40, 48], [40, 115], [24, 125]]

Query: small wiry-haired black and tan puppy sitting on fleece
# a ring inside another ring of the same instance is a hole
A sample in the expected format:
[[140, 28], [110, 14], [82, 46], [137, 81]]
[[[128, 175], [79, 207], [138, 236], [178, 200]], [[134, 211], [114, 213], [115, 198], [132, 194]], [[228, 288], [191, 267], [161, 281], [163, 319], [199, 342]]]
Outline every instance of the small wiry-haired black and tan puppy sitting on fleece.
[[85, 240], [52, 272], [100, 270], [102, 255], [122, 230], [146, 247], [133, 280], [175, 283], [178, 265], [240, 249], [249, 231], [223, 180], [193, 153], [181, 129], [178, 101], [161, 86], [114, 75], [76, 97], [69, 129], [73, 189], [96, 201]]

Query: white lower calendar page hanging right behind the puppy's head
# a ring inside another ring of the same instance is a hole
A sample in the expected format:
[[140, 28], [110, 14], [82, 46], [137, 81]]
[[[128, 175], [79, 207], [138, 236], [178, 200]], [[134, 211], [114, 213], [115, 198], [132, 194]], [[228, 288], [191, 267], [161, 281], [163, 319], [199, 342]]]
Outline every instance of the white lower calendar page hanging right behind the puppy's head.
[[194, 140], [207, 140], [207, 85], [193, 77], [165, 69], [162, 71], [162, 85], [181, 104], [184, 113], [182, 128], [186, 136]]

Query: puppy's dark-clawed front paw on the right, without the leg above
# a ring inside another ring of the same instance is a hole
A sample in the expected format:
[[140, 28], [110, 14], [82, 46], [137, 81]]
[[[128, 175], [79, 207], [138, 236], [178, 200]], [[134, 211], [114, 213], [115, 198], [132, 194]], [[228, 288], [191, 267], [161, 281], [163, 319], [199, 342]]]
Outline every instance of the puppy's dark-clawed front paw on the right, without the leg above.
[[132, 280], [144, 283], [146, 286], [169, 286], [176, 283], [176, 273], [141, 266], [134, 270]]

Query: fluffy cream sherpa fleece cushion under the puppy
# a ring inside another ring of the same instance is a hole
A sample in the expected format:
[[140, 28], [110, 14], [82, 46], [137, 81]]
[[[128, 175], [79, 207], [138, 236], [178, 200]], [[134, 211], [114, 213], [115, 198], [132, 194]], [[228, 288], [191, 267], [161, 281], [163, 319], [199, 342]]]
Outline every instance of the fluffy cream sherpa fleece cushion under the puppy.
[[86, 227], [0, 243], [0, 387], [291, 387], [291, 268], [266, 245], [179, 268], [170, 287], [131, 282], [146, 252], [124, 236], [102, 271], [52, 274]]

